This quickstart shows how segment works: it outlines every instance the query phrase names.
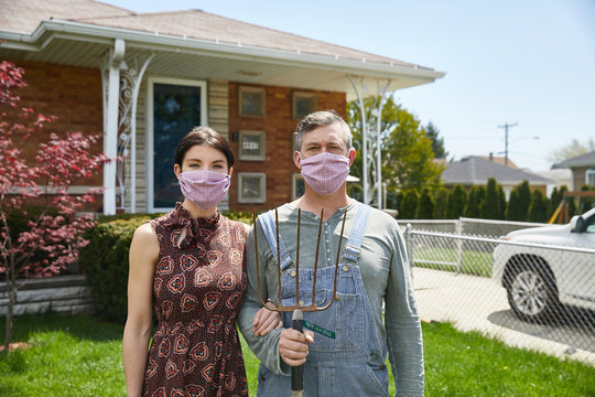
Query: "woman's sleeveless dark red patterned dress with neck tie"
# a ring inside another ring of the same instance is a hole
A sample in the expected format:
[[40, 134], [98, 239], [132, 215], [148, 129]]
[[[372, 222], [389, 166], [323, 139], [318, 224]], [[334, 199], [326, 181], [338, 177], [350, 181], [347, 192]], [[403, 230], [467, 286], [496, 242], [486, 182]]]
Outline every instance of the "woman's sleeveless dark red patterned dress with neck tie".
[[159, 324], [143, 396], [248, 396], [235, 324], [247, 286], [244, 225], [219, 213], [192, 219], [180, 203], [151, 225]]

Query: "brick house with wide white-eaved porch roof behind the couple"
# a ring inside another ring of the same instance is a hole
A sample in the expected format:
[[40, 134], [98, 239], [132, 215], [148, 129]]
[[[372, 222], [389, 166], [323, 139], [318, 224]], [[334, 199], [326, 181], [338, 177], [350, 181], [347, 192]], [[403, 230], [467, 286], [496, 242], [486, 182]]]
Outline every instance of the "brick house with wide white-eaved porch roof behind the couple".
[[224, 210], [291, 201], [292, 131], [304, 114], [345, 116], [347, 100], [444, 75], [198, 10], [134, 13], [91, 0], [0, 9], [0, 60], [25, 69], [23, 104], [57, 116], [50, 130], [102, 133], [104, 151], [125, 159], [85, 181], [105, 187], [93, 210], [106, 214], [173, 207], [173, 150], [197, 125], [227, 136], [238, 158]]

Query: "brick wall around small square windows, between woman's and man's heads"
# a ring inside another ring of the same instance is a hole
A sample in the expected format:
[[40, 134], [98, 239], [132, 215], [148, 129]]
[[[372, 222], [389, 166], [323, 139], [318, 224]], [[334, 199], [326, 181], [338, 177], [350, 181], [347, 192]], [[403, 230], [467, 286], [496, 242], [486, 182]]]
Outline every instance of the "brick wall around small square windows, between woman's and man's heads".
[[[229, 138], [234, 153], [238, 157], [238, 142], [234, 132], [239, 130], [262, 130], [267, 133], [264, 161], [240, 161], [234, 167], [229, 187], [229, 208], [231, 211], [257, 212], [270, 210], [291, 201], [291, 179], [298, 172], [293, 164], [292, 138], [299, 120], [291, 118], [292, 88], [259, 86], [266, 88], [266, 116], [263, 118], [239, 117], [238, 87], [245, 84], [229, 83]], [[303, 90], [300, 90], [303, 92]], [[345, 93], [315, 92], [317, 110], [334, 109], [345, 117]], [[238, 203], [238, 173], [267, 173], [267, 202], [263, 204]]]

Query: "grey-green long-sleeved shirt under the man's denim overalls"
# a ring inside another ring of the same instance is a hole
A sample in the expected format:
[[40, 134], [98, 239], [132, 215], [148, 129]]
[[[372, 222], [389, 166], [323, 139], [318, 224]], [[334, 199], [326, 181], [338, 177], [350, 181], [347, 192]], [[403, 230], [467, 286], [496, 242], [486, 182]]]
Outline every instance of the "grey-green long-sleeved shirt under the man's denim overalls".
[[[348, 239], [355, 218], [355, 201], [339, 208], [323, 222], [318, 268], [335, 266], [337, 248]], [[344, 237], [339, 244], [343, 214], [347, 211]], [[278, 208], [280, 234], [293, 260], [298, 247], [298, 211], [291, 204]], [[300, 268], [313, 268], [317, 244], [320, 214], [302, 211], [300, 233]], [[260, 288], [262, 298], [278, 301], [278, 261], [260, 225], [258, 226], [258, 253]], [[252, 320], [261, 308], [257, 293], [257, 270], [253, 228], [248, 235], [248, 289], [240, 310], [238, 322], [246, 341], [256, 356], [277, 374], [289, 375], [290, 367], [279, 355], [279, 336], [274, 330], [266, 336], [256, 337]], [[340, 260], [339, 260], [340, 264]], [[404, 242], [397, 222], [388, 214], [372, 208], [361, 244], [359, 269], [368, 294], [375, 329], [380, 348], [388, 348], [389, 361], [394, 377], [397, 396], [423, 396], [423, 344], [421, 324], [415, 300]], [[339, 265], [340, 266], [340, 265]], [[382, 303], [385, 321], [382, 321]], [[314, 335], [316, 337], [316, 335]]]

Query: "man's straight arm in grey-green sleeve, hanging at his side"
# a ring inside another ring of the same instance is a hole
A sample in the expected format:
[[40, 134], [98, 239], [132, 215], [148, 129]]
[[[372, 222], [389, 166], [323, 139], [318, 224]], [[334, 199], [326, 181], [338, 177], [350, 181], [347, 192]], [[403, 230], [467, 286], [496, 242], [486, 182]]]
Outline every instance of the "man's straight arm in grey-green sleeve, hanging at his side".
[[385, 298], [385, 326], [397, 396], [423, 396], [423, 341], [413, 283], [400, 230], [392, 232], [393, 250]]

